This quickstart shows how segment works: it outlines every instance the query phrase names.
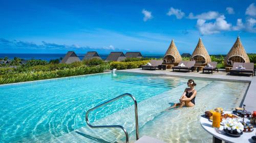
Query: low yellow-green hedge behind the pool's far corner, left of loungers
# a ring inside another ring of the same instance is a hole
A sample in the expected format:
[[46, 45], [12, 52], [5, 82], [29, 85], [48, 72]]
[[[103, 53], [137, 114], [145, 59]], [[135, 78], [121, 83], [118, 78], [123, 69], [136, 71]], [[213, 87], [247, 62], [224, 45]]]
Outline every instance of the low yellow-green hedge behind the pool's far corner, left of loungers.
[[134, 62], [112, 62], [110, 63], [110, 69], [134, 69], [139, 68], [141, 65], [145, 65], [149, 61], [134, 61]]

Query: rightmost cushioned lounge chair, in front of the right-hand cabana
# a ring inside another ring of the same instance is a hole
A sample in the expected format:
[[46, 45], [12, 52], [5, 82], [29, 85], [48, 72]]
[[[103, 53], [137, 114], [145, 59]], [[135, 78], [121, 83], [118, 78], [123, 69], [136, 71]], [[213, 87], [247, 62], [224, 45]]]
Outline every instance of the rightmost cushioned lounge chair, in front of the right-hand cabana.
[[[240, 65], [245, 69], [237, 69]], [[233, 73], [251, 73], [253, 76], [253, 68], [254, 63], [233, 63], [233, 67], [230, 69], [230, 75]]]

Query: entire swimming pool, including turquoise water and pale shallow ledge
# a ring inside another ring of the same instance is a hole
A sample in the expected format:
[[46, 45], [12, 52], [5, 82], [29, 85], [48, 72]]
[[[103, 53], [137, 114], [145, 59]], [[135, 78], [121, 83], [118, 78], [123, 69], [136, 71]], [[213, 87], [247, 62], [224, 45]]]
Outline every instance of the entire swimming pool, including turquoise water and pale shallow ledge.
[[[249, 83], [195, 79], [196, 106], [161, 112], [178, 102], [187, 78], [148, 74], [111, 73], [41, 80], [0, 86], [1, 142], [105, 142], [122, 141], [118, 129], [90, 129], [84, 121], [88, 109], [123, 93], [138, 103], [140, 136], [166, 142], [208, 142], [199, 125], [206, 109], [239, 106]], [[90, 114], [97, 125], [123, 125], [135, 140], [133, 101], [123, 98]], [[202, 138], [202, 136], [204, 136]], [[98, 141], [97, 141], [98, 140]], [[101, 140], [102, 141], [102, 140]]]

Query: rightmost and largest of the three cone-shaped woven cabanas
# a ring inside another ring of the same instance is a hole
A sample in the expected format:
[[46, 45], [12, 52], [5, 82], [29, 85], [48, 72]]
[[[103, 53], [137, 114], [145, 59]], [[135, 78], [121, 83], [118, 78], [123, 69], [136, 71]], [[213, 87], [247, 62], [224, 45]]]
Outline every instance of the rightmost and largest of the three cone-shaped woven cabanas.
[[249, 57], [240, 41], [240, 37], [238, 37], [237, 41], [234, 42], [234, 45], [232, 46], [224, 60], [224, 64], [226, 67], [232, 67], [234, 62], [250, 63]]

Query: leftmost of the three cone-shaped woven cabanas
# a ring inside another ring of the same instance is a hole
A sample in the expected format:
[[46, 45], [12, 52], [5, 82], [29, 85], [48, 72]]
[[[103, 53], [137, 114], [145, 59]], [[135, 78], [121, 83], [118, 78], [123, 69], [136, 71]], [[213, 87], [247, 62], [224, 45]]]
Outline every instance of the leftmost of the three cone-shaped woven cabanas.
[[165, 64], [177, 64], [181, 61], [181, 55], [174, 43], [174, 40], [170, 42], [170, 46], [165, 52], [163, 60]]

